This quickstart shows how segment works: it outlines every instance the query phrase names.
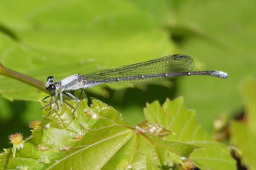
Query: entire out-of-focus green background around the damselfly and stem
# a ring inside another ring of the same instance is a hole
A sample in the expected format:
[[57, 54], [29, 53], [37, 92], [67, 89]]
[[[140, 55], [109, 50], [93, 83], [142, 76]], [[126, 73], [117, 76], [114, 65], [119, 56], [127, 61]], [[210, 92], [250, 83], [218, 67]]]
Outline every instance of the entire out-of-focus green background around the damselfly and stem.
[[[42, 82], [138, 63], [171, 54], [192, 56], [196, 70], [221, 70], [228, 79], [180, 77], [170, 82], [86, 89], [127, 122], [144, 120], [146, 102], [184, 96], [208, 132], [220, 115], [244, 110], [239, 85], [255, 75], [256, 1], [1, 1], [0, 62]], [[31, 133], [47, 94], [0, 76], [0, 148], [8, 135]], [[90, 102], [90, 101], [89, 101]]]

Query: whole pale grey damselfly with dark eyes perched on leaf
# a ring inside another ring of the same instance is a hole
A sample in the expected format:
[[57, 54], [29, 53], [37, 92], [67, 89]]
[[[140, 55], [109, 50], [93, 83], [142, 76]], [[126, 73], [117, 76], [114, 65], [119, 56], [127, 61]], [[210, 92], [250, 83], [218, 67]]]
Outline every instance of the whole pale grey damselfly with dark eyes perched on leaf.
[[[60, 89], [60, 106], [63, 104], [63, 92], [75, 99], [78, 104], [73, 111], [74, 117], [74, 112], [79, 106], [80, 100], [69, 91], [82, 89], [83, 92], [84, 88], [91, 88], [103, 83], [145, 85], [165, 81], [178, 76], [209, 75], [224, 79], [228, 78], [228, 74], [223, 71], [190, 71], [194, 68], [194, 65], [193, 58], [188, 55], [168, 55], [154, 60], [126, 65], [115, 69], [100, 70], [83, 75], [75, 74], [58, 82], [54, 82], [54, 77], [49, 76], [47, 78], [45, 89], [51, 94], [55, 93], [55, 102], [57, 102], [58, 90]], [[58, 108], [59, 107], [54, 110]], [[49, 114], [51, 112], [49, 112]]]

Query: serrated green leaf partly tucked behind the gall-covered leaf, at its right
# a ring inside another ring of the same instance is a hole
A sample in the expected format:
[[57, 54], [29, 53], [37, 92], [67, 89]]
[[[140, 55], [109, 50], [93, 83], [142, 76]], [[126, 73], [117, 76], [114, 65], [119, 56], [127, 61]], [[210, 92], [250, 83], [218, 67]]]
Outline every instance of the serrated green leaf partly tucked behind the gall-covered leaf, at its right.
[[163, 106], [155, 101], [147, 104], [144, 113], [150, 122], [163, 125], [175, 135], [166, 140], [204, 147], [192, 153], [191, 159], [200, 169], [235, 169], [236, 161], [226, 145], [214, 141], [195, 120], [195, 111], [184, 108], [183, 98], [167, 99]]

